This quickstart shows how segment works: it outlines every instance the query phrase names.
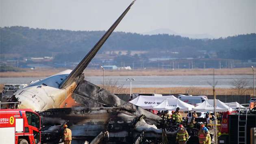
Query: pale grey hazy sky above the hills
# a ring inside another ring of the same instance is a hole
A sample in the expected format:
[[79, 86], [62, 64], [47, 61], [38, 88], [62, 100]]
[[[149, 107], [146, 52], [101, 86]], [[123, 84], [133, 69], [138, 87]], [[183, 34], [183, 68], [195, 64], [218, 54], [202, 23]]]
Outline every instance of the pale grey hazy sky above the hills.
[[[0, 0], [0, 26], [107, 30], [131, 0]], [[256, 0], [137, 0], [115, 31], [256, 32]]]

